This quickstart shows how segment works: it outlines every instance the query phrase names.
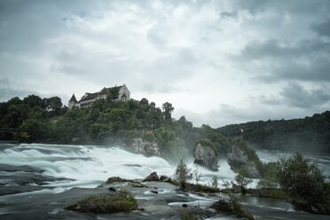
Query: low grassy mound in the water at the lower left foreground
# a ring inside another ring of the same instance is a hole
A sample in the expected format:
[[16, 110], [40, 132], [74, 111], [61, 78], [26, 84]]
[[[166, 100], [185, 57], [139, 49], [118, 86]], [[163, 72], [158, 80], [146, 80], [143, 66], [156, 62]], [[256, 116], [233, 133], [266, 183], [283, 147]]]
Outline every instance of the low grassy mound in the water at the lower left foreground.
[[92, 195], [67, 207], [68, 210], [95, 214], [130, 212], [134, 208], [138, 208], [137, 200], [132, 193], [125, 191], [114, 196]]

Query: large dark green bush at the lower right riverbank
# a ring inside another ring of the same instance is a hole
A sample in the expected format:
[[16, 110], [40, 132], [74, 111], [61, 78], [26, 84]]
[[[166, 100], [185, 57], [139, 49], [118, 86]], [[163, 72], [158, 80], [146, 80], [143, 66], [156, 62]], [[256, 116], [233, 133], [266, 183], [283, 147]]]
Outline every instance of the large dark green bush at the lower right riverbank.
[[279, 185], [299, 203], [326, 203], [326, 183], [322, 172], [301, 153], [279, 160]]

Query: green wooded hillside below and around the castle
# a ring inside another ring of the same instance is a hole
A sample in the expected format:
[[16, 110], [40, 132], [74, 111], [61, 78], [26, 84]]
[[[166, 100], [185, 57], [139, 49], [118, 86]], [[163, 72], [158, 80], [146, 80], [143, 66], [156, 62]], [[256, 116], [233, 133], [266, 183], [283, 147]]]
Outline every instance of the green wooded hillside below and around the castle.
[[157, 143], [161, 154], [191, 150], [198, 141], [209, 142], [216, 153], [226, 153], [230, 141], [208, 125], [193, 127], [185, 116], [174, 120], [174, 107], [161, 108], [146, 98], [140, 101], [98, 99], [89, 108], [68, 109], [60, 98], [12, 98], [0, 103], [0, 127], [17, 134], [0, 133], [0, 139], [49, 144], [130, 144], [132, 138]]

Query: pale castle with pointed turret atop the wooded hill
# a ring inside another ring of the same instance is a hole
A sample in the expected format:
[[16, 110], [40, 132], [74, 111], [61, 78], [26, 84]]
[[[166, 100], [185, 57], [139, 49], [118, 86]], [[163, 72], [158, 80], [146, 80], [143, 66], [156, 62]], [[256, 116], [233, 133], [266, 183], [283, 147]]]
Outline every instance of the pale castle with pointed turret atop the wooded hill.
[[118, 98], [115, 98], [114, 101], [128, 101], [130, 100], [130, 90], [127, 89], [126, 85], [123, 84], [121, 86], [114, 86], [114, 87], [109, 87], [109, 88], [103, 88], [100, 91], [90, 93], [86, 92], [83, 97], [77, 101], [75, 98], [75, 94], [72, 95], [70, 100], [68, 101], [68, 107], [73, 108], [74, 106], [76, 107], [90, 107], [93, 105], [93, 103], [100, 99], [106, 99], [106, 97], [115, 90], [118, 90]]

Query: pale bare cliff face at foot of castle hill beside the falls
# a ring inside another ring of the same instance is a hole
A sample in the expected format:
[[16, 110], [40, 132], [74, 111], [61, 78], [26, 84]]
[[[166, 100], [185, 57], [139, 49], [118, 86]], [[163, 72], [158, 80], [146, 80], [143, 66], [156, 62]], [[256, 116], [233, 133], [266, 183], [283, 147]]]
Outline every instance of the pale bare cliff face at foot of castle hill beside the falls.
[[132, 147], [136, 153], [142, 153], [148, 157], [161, 155], [161, 148], [154, 141], [145, 141], [142, 138], [134, 138]]

